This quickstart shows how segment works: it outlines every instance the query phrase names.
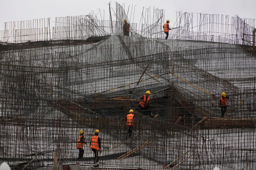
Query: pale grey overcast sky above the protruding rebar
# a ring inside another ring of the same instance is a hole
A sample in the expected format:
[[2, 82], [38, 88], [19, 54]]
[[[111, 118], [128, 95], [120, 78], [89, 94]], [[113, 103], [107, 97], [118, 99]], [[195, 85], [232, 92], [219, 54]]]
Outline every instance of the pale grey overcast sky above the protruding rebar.
[[[64, 16], [87, 15], [91, 11], [95, 13], [98, 8], [101, 11], [105, 10], [105, 19], [108, 15], [109, 1], [103, 0], [0, 0], [0, 30], [3, 30], [4, 22], [32, 20], [40, 18], [51, 18]], [[119, 4], [125, 3], [125, 9], [129, 5], [136, 5], [135, 17], [138, 16], [138, 21], [141, 18], [143, 6], [148, 8], [159, 8], [165, 10], [165, 19], [171, 20], [172, 23], [176, 21], [176, 12], [193, 12], [203, 14], [225, 14], [238, 15], [241, 18], [256, 19], [256, 2], [255, 0], [122, 0], [116, 1]], [[115, 9], [115, 1], [111, 2], [111, 7]], [[127, 11], [126, 11], [127, 12]], [[174, 20], [174, 21], [173, 21]], [[135, 22], [136, 20], [134, 20]], [[51, 24], [53, 26], [53, 24]]]

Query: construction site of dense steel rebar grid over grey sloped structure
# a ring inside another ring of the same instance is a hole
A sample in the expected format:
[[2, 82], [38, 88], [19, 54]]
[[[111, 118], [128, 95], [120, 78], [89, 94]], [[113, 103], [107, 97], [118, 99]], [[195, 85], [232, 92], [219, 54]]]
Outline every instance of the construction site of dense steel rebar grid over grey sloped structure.
[[[106, 6], [104, 17], [98, 10], [53, 22], [4, 23], [0, 164], [14, 170], [256, 169], [255, 19], [177, 12], [165, 39], [164, 10], [145, 7], [134, 16], [134, 5]], [[147, 91], [144, 112], [139, 102]], [[229, 97], [224, 116], [223, 92]], [[90, 149], [96, 129], [97, 168]], [[86, 142], [82, 159], [79, 130]]]

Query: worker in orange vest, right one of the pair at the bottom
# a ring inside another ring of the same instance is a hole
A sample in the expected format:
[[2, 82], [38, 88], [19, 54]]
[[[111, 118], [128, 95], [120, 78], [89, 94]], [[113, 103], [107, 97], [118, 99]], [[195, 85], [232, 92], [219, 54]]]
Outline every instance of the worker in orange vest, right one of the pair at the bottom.
[[101, 153], [101, 138], [99, 138], [99, 130], [95, 130], [95, 135], [91, 138], [90, 148], [94, 153], [94, 167], [99, 167], [99, 152]]

